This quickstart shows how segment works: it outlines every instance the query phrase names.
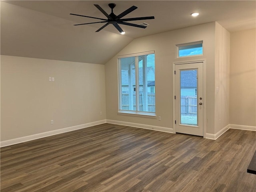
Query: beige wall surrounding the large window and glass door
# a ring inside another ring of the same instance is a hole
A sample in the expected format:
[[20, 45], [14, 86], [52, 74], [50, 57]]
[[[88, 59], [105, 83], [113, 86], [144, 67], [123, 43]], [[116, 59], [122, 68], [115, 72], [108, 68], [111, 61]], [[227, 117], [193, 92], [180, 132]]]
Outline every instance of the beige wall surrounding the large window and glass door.
[[[155, 34], [133, 40], [105, 65], [106, 111], [108, 120], [173, 128], [172, 62], [206, 59], [206, 132], [214, 134], [214, 36], [215, 22]], [[176, 44], [203, 40], [204, 55], [176, 58]], [[118, 115], [117, 56], [155, 51], [156, 116], [162, 120]]]

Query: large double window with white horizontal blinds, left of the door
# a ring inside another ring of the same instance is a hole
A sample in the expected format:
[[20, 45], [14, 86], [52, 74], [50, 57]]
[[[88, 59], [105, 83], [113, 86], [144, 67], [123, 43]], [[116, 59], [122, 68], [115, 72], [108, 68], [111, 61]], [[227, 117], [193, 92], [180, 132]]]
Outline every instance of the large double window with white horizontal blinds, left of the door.
[[118, 57], [119, 112], [155, 116], [154, 51]]

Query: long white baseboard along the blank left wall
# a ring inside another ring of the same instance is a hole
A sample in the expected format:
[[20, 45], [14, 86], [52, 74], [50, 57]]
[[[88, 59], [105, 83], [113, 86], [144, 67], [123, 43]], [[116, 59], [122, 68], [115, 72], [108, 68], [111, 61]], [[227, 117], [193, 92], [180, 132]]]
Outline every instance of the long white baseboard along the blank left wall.
[[38, 133], [38, 134], [34, 134], [34, 135], [29, 135], [29, 136], [24, 136], [24, 137], [20, 137], [20, 138], [5, 140], [5, 141], [0, 142], [0, 147], [10, 146], [10, 145], [14, 145], [14, 144], [18, 144], [18, 143], [22, 143], [22, 142], [26, 142], [26, 141], [31, 141], [31, 140], [35, 140], [35, 139], [39, 139], [39, 138], [43, 138], [43, 137], [48, 137], [48, 136], [52, 136], [52, 135], [56, 135], [56, 134], [70, 132], [70, 131], [74, 131], [74, 130], [78, 130], [78, 129], [83, 129], [83, 128], [100, 125], [100, 124], [104, 124], [104, 123], [106, 123], [106, 120], [100, 120], [100, 121], [96, 121], [96, 122], [90, 122], [90, 123], [86, 123], [86, 124], [52, 130], [52, 131]]

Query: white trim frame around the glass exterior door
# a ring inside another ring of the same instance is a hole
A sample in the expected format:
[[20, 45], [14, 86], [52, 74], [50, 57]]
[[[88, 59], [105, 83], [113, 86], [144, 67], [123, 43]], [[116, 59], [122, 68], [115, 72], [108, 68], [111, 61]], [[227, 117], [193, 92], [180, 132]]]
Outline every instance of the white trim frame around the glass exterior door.
[[173, 118], [173, 133], [176, 134], [176, 109], [175, 109], [175, 66], [179, 64], [190, 64], [190, 63], [203, 63], [203, 98], [204, 98], [204, 104], [203, 104], [203, 137], [206, 138], [206, 59], [200, 59], [200, 60], [189, 60], [189, 61], [183, 61], [183, 62], [172, 62], [172, 118]]

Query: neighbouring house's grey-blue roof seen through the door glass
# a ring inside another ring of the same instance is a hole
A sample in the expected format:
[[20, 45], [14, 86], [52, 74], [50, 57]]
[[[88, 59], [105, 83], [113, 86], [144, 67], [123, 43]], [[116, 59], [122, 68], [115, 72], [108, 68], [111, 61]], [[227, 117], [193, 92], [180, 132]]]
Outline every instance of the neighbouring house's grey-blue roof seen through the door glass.
[[182, 70], [180, 73], [181, 87], [197, 87], [197, 71]]

